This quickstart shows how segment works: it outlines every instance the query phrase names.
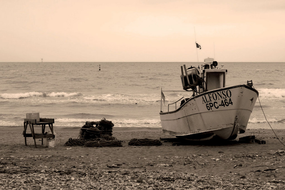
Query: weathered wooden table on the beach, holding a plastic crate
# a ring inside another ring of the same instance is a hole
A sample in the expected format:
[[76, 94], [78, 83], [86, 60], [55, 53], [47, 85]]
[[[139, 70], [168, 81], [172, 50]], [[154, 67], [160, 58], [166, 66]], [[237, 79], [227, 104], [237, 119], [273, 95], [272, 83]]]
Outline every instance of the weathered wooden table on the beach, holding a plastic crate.
[[[36, 119], [24, 119], [23, 135], [25, 137], [25, 145], [27, 146], [27, 137], [32, 137], [34, 139], [35, 146], [36, 146], [36, 139], [37, 138], [42, 139], [42, 145], [43, 145], [43, 139], [44, 138], [55, 138], [55, 135], [53, 132], [53, 125], [52, 125], [53, 123], [54, 123], [54, 119], [47, 119], [47, 118], [40, 118], [39, 122], [37, 122]], [[26, 133], [28, 125], [30, 127], [31, 133]], [[35, 133], [34, 125], [41, 125], [42, 126], [42, 132], [41, 133]], [[49, 126], [52, 134], [47, 134], [47, 132], [44, 132], [46, 125]]]

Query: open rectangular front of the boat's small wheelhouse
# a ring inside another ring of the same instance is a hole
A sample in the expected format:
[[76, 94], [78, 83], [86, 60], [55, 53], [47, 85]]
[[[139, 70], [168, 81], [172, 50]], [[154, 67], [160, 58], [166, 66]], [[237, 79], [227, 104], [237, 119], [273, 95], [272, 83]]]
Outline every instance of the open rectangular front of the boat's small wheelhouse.
[[225, 87], [225, 73], [208, 72], [206, 80], [207, 91]]

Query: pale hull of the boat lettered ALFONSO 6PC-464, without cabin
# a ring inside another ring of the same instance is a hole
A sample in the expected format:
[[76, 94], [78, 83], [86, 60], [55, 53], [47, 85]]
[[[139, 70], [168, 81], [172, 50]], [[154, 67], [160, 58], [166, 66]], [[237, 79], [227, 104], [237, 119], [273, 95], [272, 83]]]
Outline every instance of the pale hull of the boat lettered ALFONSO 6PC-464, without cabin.
[[201, 93], [175, 111], [160, 113], [163, 133], [193, 140], [234, 139], [245, 132], [257, 97], [247, 85]]

